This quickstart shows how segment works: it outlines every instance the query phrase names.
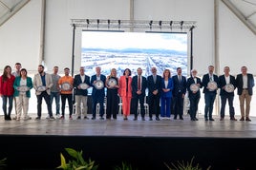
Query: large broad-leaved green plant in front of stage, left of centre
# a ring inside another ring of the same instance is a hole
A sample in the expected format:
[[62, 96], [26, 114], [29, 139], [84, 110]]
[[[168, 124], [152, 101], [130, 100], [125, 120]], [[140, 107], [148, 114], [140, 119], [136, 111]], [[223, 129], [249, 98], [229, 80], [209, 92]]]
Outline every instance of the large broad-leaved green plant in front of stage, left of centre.
[[65, 148], [68, 154], [72, 157], [72, 160], [66, 161], [65, 157], [60, 153], [61, 164], [57, 167], [58, 169], [64, 170], [96, 170], [97, 165], [95, 161], [84, 161], [82, 154], [83, 152], [77, 152], [72, 148]]

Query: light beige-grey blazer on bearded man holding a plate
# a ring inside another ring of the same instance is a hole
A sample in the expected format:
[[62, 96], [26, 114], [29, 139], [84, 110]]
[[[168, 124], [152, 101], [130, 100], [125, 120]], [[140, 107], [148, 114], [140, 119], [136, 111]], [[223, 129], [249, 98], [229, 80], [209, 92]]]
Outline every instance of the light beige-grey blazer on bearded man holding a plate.
[[[53, 86], [53, 79], [51, 74], [45, 72], [45, 83], [46, 83], [46, 92], [50, 95], [51, 94], [51, 87]], [[43, 85], [41, 75], [39, 73], [35, 74], [33, 77], [33, 88], [35, 89], [35, 94], [40, 95], [42, 92], [38, 91], [38, 86]]]

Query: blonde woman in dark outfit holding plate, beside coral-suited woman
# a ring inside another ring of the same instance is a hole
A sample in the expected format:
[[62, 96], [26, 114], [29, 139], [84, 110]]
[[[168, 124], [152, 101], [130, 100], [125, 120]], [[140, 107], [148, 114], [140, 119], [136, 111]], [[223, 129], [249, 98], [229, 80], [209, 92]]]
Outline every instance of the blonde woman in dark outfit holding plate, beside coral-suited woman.
[[111, 115], [113, 115], [113, 119], [117, 120], [117, 108], [118, 108], [118, 79], [117, 79], [117, 69], [112, 68], [110, 75], [106, 80], [107, 87], [107, 111], [106, 118], [107, 120], [111, 119]]

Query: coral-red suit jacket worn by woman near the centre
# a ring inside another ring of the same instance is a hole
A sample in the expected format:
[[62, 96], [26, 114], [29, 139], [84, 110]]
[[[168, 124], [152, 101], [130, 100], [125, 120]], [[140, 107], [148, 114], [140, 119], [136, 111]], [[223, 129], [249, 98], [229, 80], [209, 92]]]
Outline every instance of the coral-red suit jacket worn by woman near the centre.
[[[128, 97], [132, 98], [132, 78], [128, 77], [128, 86], [126, 85], [126, 78], [125, 76], [121, 76], [119, 78], [119, 88], [118, 88], [118, 94], [120, 97]], [[128, 90], [126, 90], [128, 87]]]

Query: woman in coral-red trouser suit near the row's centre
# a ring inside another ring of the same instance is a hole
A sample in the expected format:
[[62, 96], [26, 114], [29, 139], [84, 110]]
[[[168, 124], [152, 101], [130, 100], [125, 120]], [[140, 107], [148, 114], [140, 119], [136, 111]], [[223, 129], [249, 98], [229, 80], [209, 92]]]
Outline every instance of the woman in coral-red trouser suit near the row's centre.
[[119, 89], [118, 93], [122, 101], [122, 113], [123, 120], [128, 120], [131, 109], [131, 99], [132, 99], [132, 78], [131, 70], [129, 68], [124, 69], [123, 76], [119, 79]]

